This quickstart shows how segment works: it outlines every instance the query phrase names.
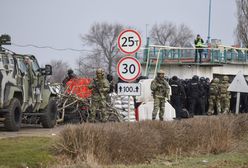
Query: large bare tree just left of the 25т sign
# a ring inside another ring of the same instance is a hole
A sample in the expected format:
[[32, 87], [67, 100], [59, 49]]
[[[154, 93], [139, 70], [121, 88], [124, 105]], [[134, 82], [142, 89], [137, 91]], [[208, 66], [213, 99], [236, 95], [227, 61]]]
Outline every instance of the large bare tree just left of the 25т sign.
[[[123, 26], [120, 24], [95, 23], [91, 26], [89, 33], [82, 36], [82, 41], [86, 45], [93, 47], [93, 54], [88, 54], [88, 65], [95, 67], [107, 66], [109, 74], [113, 73], [116, 66], [116, 56], [118, 50], [116, 48], [117, 37]], [[99, 62], [100, 61], [100, 62]]]

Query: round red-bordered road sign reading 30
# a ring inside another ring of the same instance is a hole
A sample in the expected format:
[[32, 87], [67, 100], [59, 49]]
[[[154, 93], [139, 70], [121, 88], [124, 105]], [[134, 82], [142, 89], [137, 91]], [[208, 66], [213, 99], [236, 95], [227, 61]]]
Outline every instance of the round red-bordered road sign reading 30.
[[123, 81], [135, 81], [140, 73], [140, 62], [134, 57], [123, 57], [117, 64], [117, 74]]

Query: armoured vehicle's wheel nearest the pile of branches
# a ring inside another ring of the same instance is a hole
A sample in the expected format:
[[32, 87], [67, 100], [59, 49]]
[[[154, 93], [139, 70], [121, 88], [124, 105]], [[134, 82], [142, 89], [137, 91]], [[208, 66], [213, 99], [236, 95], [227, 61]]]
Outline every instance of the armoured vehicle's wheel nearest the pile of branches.
[[54, 99], [50, 99], [47, 107], [42, 110], [44, 115], [41, 116], [40, 121], [43, 128], [53, 128], [57, 120], [57, 103]]

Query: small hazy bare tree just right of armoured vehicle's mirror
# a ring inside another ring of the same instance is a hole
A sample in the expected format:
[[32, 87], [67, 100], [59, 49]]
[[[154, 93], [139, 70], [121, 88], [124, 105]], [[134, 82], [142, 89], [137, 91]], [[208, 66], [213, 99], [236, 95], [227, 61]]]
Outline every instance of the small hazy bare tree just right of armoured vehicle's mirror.
[[67, 62], [63, 62], [62, 60], [52, 60], [50, 65], [53, 67], [53, 74], [49, 77], [50, 82], [62, 82], [62, 80], [67, 75], [67, 70], [69, 69], [69, 65]]

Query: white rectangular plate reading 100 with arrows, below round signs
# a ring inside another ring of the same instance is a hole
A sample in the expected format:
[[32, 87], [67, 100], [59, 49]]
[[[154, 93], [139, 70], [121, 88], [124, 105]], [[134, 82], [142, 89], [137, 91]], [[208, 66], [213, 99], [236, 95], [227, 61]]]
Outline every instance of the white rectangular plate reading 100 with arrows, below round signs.
[[119, 96], [140, 96], [141, 84], [140, 83], [118, 83], [117, 94]]

